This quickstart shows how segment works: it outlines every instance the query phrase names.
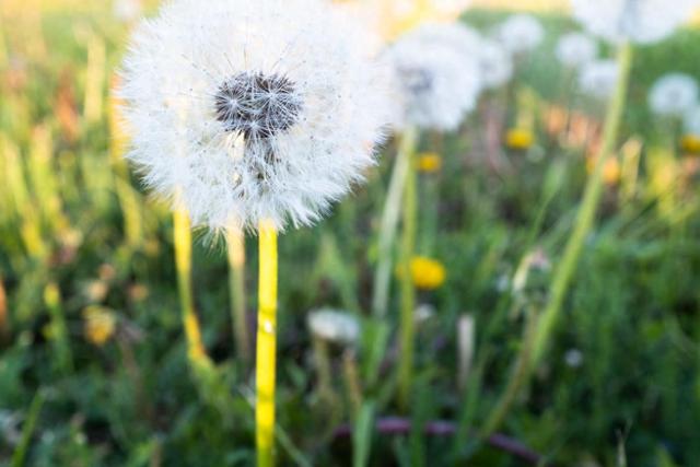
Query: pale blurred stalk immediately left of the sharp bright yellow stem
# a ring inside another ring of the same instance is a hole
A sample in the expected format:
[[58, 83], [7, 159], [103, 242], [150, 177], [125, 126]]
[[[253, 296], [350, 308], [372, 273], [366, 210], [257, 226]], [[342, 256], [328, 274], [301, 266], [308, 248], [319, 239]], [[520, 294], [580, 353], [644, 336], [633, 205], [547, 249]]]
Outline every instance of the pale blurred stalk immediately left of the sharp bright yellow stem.
[[241, 229], [226, 231], [229, 257], [229, 300], [231, 301], [231, 324], [235, 336], [236, 351], [246, 369], [250, 363], [250, 337], [246, 318], [245, 295], [245, 235]]

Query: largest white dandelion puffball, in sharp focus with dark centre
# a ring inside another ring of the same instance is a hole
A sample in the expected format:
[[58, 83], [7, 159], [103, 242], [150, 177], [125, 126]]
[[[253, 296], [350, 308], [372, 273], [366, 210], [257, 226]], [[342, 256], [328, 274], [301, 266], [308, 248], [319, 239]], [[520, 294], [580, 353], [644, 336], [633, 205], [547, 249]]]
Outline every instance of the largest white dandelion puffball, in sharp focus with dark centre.
[[388, 79], [361, 25], [322, 0], [174, 0], [137, 30], [128, 154], [195, 225], [310, 225], [362, 179]]

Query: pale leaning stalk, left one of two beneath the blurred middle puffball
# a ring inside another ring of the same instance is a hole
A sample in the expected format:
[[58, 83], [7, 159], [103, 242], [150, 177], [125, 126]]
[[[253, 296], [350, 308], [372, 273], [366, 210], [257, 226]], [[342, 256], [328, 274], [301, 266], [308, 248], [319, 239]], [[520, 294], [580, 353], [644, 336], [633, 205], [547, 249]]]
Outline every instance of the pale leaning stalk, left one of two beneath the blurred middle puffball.
[[406, 186], [410, 161], [416, 153], [417, 141], [418, 131], [415, 128], [407, 129], [401, 136], [384, 211], [382, 213], [378, 259], [374, 276], [374, 295], [372, 297], [372, 313], [377, 318], [386, 317], [388, 310], [389, 287], [392, 282], [392, 256], [401, 212], [404, 187]]

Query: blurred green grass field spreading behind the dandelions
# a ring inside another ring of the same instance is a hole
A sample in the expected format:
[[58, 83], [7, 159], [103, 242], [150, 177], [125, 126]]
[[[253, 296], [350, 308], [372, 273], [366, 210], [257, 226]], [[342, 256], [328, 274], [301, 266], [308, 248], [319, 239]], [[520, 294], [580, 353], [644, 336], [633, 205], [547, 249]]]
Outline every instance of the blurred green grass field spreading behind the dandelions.
[[[94, 2], [35, 7], [0, 5], [0, 464], [253, 465], [224, 245], [195, 232], [191, 290], [214, 363], [199, 384], [172, 215], [132, 178], [110, 127], [127, 26]], [[465, 21], [486, 31], [502, 17]], [[420, 175], [419, 253], [446, 280], [419, 294], [409, 410], [396, 399], [397, 299], [387, 319], [369, 313], [395, 143], [329, 219], [280, 238], [279, 465], [526, 465], [513, 443], [562, 466], [700, 465], [700, 160], [646, 106], [660, 75], [700, 79], [690, 28], [637, 50], [617, 170], [544, 363], [499, 423], [508, 446], [479, 436], [518, 377], [604, 114], [552, 58], [573, 23], [542, 21], [547, 40], [509, 87], [457, 133], [420, 143], [442, 170]], [[516, 126], [535, 137], [525, 150], [501, 144]], [[255, 238], [246, 253], [253, 332]], [[312, 338], [306, 315], [325, 306], [361, 317], [357, 347]], [[474, 339], [458, 336], [465, 323]]]

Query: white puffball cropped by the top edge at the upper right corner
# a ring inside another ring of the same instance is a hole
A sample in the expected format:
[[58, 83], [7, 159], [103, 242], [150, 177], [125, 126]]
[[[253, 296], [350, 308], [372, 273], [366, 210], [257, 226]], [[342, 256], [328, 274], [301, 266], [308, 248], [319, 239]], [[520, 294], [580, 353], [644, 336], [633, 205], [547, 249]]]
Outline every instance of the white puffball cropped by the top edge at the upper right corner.
[[607, 40], [654, 43], [690, 20], [698, 0], [572, 0], [573, 15]]

